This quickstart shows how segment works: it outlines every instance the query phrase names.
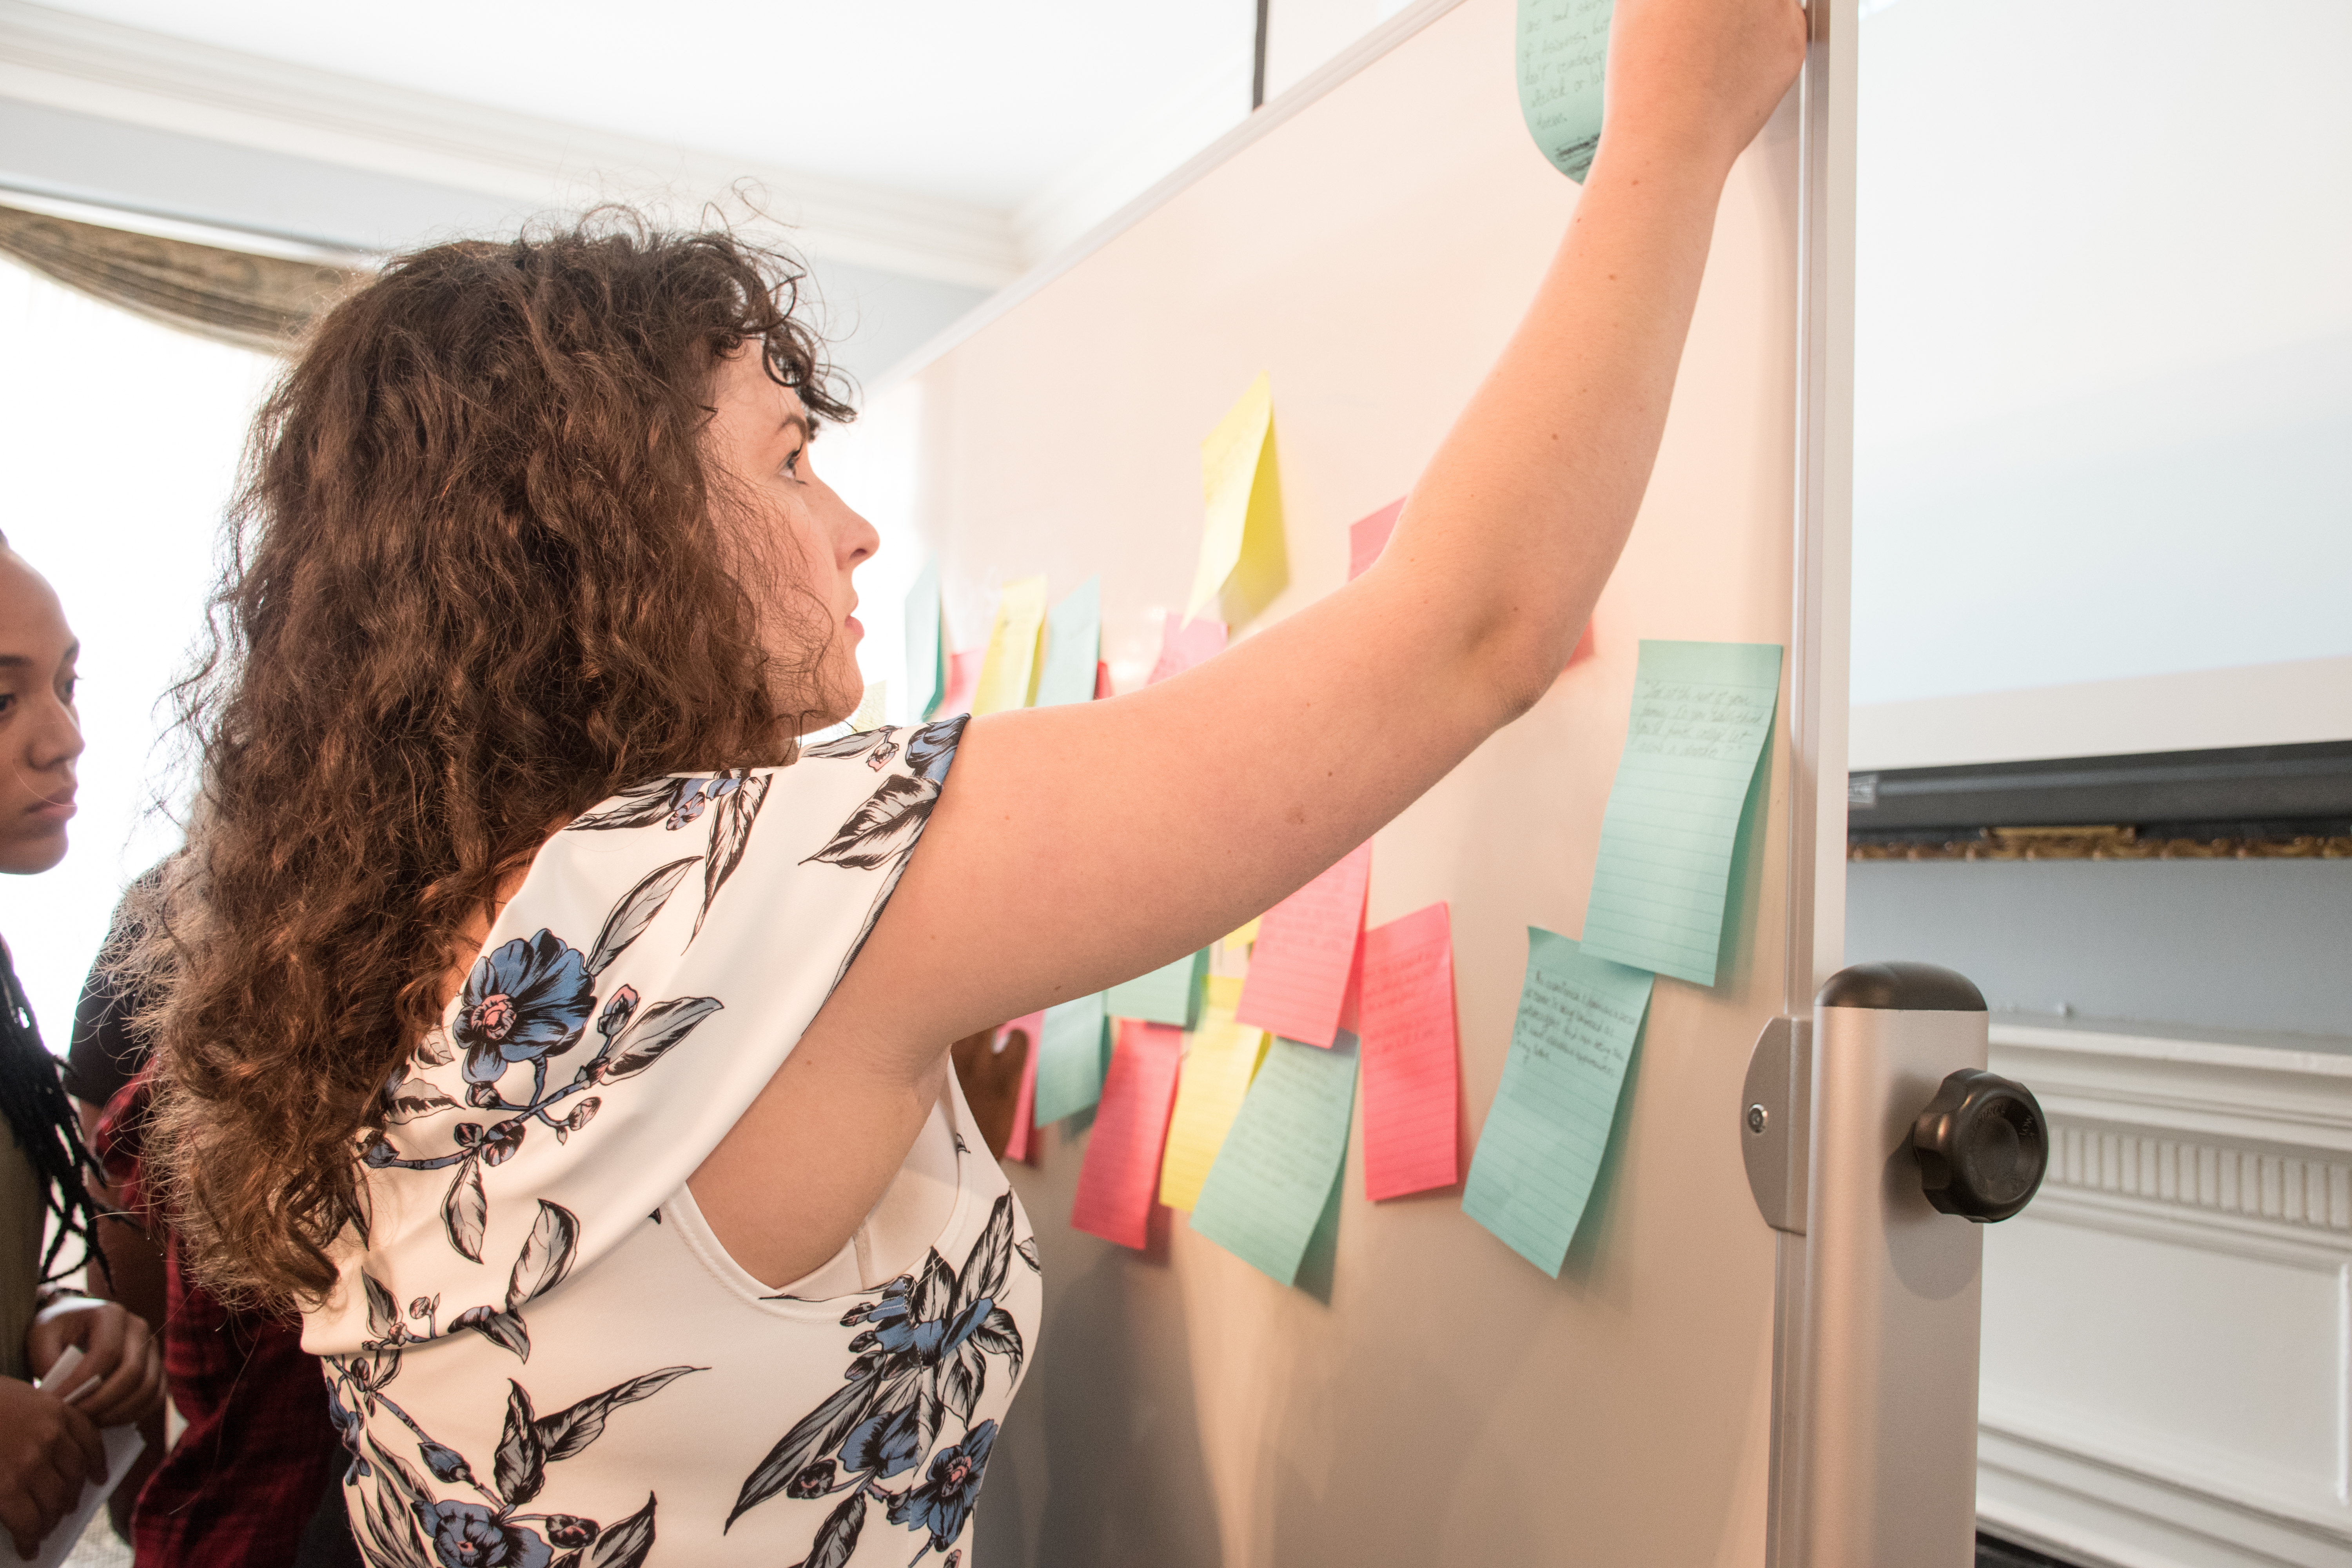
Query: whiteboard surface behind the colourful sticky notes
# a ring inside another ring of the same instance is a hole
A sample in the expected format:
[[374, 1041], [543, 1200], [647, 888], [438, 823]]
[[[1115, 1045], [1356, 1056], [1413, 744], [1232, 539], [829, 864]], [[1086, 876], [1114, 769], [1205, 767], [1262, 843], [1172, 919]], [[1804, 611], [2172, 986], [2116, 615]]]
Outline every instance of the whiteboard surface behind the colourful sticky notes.
[[[1000, 583], [1042, 571], [1058, 597], [1101, 574], [1103, 654], [1138, 684], [1192, 581], [1197, 442], [1258, 371], [1291, 581], [1256, 625], [1334, 590], [1348, 524], [1414, 482], [1578, 193], [1519, 125], [1512, 0], [1425, 5], [1381, 42], [882, 400], [957, 649]], [[1595, 654], [1376, 839], [1374, 924], [1454, 912], [1468, 1164], [1526, 926], [1583, 929], [1637, 642], [1792, 644], [1722, 983], [1658, 983], [1562, 1279], [1458, 1190], [1367, 1204], [1362, 1105], [1336, 1246], [1303, 1288], [1167, 1211], [1148, 1253], [1073, 1232], [1084, 1133], [1044, 1128], [1040, 1168], [1011, 1168], [1047, 1316], [978, 1512], [990, 1568], [1764, 1561], [1776, 1248], [1733, 1119], [1759, 1025], [1835, 966], [1844, 893], [1813, 875], [1844, 856], [1842, 806], [1813, 790], [1844, 771], [1844, 609], [1823, 590], [1837, 508], [1799, 505], [1799, 120], [1792, 96], [1733, 172]]]

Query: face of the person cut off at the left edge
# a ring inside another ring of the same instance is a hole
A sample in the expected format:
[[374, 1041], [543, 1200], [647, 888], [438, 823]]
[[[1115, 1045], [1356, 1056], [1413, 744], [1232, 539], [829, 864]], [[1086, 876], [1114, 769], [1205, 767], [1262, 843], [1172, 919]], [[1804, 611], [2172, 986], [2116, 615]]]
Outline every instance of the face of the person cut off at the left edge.
[[82, 755], [80, 651], [49, 585], [0, 545], [0, 872], [45, 872], [66, 858]]

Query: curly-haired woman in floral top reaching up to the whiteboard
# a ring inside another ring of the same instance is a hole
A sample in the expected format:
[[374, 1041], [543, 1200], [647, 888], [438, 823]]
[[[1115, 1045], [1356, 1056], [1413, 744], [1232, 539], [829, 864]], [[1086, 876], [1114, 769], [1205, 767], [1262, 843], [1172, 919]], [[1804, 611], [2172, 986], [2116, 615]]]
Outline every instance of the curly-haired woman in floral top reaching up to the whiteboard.
[[948, 1041], [1230, 931], [1545, 691], [1802, 52], [1790, 0], [1625, 0], [1381, 564], [1103, 703], [795, 741], [877, 538], [774, 259], [445, 244], [327, 315], [183, 691], [148, 1150], [200, 1274], [301, 1305], [374, 1563], [962, 1559], [1040, 1281]]

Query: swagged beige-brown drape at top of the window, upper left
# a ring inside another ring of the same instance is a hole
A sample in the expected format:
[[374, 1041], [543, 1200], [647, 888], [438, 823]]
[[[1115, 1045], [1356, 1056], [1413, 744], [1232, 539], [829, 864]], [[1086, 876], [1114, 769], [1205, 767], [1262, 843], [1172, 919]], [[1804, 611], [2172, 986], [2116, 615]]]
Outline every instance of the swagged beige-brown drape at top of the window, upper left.
[[165, 327], [287, 353], [360, 273], [0, 207], [0, 254]]

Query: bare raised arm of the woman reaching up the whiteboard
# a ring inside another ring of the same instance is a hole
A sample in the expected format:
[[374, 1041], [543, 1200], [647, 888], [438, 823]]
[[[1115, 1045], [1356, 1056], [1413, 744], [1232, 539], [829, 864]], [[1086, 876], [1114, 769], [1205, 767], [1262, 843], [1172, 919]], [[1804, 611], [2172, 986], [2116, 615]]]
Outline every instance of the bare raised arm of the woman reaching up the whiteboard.
[[948, 1041], [1202, 947], [1543, 696], [1649, 484], [1724, 176], [1802, 56], [1792, 0], [1618, 0], [1602, 158], [1381, 562], [1176, 679], [967, 729], [866, 952], [694, 1178], [748, 1269], [840, 1248]]

